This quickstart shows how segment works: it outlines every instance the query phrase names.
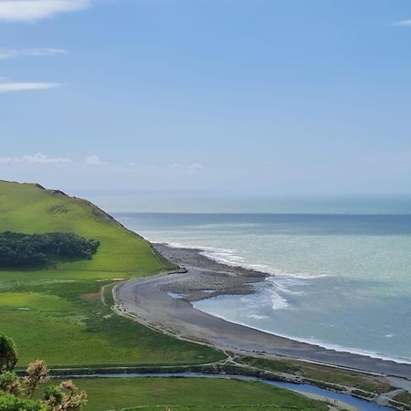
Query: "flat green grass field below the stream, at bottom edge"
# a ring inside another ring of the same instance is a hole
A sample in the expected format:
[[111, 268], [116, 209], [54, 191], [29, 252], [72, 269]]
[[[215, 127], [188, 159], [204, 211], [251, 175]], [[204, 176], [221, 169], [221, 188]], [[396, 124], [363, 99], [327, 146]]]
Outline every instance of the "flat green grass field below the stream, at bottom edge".
[[89, 395], [85, 411], [328, 410], [319, 401], [259, 382], [154, 377], [87, 378], [75, 383]]

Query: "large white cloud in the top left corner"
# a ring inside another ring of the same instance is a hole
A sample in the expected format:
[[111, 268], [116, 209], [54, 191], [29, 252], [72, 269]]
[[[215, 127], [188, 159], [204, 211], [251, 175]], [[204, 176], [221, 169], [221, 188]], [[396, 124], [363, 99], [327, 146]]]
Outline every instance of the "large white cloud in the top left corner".
[[36, 21], [89, 7], [90, 0], [0, 0], [0, 20]]

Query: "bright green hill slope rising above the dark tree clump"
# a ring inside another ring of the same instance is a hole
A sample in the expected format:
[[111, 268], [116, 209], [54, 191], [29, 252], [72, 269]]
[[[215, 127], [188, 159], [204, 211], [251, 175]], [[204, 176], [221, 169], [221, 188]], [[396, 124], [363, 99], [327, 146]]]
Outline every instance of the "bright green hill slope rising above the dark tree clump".
[[100, 240], [95, 258], [62, 264], [58, 269], [134, 272], [139, 276], [174, 269], [148, 241], [96, 205], [38, 184], [0, 182], [0, 231], [6, 230], [27, 234], [63, 231]]

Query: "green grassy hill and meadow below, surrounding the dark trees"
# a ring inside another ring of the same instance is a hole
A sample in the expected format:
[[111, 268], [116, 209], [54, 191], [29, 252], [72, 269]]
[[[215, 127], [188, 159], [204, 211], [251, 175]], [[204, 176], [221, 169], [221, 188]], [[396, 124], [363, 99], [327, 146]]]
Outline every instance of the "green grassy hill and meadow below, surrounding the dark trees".
[[174, 269], [150, 243], [95, 205], [36, 184], [0, 181], [0, 232], [71, 232], [100, 241], [90, 260], [51, 269], [0, 268], [0, 332], [16, 340], [20, 365], [198, 364], [222, 357], [115, 316], [100, 289], [118, 279]]

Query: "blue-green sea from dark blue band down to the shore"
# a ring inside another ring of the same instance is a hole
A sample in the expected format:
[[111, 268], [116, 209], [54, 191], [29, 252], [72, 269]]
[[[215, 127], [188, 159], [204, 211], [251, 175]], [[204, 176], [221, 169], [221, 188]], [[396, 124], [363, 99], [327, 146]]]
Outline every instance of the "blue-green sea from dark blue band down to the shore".
[[195, 303], [259, 330], [411, 362], [411, 215], [144, 214], [116, 218], [154, 242], [268, 272], [248, 296]]

